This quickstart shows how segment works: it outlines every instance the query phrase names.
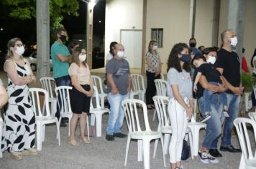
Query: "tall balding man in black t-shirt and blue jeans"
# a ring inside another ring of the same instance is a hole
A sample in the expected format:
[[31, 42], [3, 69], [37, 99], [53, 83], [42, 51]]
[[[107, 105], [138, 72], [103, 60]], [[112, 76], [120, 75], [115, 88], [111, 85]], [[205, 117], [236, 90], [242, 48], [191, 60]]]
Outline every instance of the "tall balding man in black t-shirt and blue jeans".
[[239, 112], [239, 104], [241, 95], [244, 90], [240, 76], [240, 60], [236, 52], [233, 50], [237, 46], [237, 36], [232, 29], [224, 30], [221, 33], [222, 48], [218, 52], [216, 68], [223, 75], [227, 84], [227, 105], [229, 118], [224, 122], [223, 135], [221, 137], [221, 151], [229, 151], [231, 153], [241, 152], [231, 144], [233, 121]]

